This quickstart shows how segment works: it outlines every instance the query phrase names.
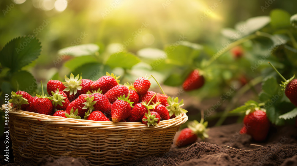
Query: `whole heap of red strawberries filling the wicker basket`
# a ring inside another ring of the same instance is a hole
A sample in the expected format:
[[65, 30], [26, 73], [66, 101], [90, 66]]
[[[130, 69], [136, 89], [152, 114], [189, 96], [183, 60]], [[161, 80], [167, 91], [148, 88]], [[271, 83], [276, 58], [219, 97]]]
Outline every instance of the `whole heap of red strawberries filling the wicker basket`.
[[178, 98], [168, 97], [153, 76], [163, 94], [148, 91], [148, 78], [139, 77], [133, 84], [121, 85], [119, 77], [106, 72], [106, 76], [92, 81], [71, 73], [70, 78], [65, 76], [65, 82], [48, 81], [50, 96], [44, 95], [42, 87], [42, 95], [35, 97], [24, 91], [11, 92], [10, 102], [18, 110], [39, 114], [114, 123], [143, 122], [148, 126], [187, 112], [180, 108], [183, 100], [178, 103]]

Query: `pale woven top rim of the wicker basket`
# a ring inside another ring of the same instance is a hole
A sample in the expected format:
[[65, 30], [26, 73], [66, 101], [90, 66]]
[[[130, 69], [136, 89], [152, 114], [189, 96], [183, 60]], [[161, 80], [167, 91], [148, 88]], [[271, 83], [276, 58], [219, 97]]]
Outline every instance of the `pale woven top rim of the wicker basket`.
[[[4, 104], [2, 105], [2, 110], [4, 110]], [[147, 127], [141, 122], [108, 122], [108, 121], [93, 121], [93, 120], [86, 120], [86, 119], [71, 119], [71, 118], [64, 118], [60, 116], [51, 116], [45, 114], [38, 114], [29, 111], [22, 111], [11, 109], [12, 107], [9, 106], [9, 114], [10, 116], [18, 116], [22, 118], [24, 121], [30, 121], [32, 123], [40, 123], [45, 122], [50, 125], [55, 126], [63, 126], [63, 127], [71, 127], [71, 128], [97, 128], [100, 130], [161, 130], [165, 128], [172, 128], [176, 126], [180, 126], [187, 122], [188, 116], [183, 113], [179, 116], [168, 119], [162, 120], [159, 122], [159, 126]]]

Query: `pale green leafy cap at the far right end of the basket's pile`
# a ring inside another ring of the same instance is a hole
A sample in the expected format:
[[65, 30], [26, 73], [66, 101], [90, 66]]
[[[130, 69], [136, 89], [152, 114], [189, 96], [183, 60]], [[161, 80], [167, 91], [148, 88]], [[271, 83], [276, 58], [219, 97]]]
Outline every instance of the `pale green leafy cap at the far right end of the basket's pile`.
[[172, 115], [179, 116], [182, 113], [188, 112], [187, 110], [181, 108], [181, 106], [184, 105], [184, 99], [182, 99], [181, 102], [178, 103], [178, 97], [176, 98], [168, 97], [167, 102], [169, 106], [167, 106], [166, 108], [169, 111], [169, 116], [172, 116]]

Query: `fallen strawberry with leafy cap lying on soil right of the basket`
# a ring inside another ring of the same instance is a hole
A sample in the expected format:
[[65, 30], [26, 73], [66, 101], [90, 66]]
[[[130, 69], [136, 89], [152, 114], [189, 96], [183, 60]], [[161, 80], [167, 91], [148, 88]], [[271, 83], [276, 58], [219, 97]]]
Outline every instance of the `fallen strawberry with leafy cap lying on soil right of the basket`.
[[182, 147], [194, 143], [197, 140], [197, 137], [202, 140], [208, 138], [208, 130], [206, 127], [208, 122], [204, 122], [204, 119], [201, 118], [200, 123], [197, 120], [189, 122], [188, 128], [181, 130], [181, 133], [178, 135], [178, 138], [175, 142], [176, 146]]

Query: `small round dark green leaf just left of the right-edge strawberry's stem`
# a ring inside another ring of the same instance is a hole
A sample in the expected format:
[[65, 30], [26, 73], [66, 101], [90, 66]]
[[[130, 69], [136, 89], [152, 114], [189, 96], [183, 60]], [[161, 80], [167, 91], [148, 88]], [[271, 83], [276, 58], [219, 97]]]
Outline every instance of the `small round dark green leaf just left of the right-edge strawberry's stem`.
[[280, 86], [273, 76], [269, 76], [263, 80], [262, 90], [268, 95], [275, 95], [280, 90]]

